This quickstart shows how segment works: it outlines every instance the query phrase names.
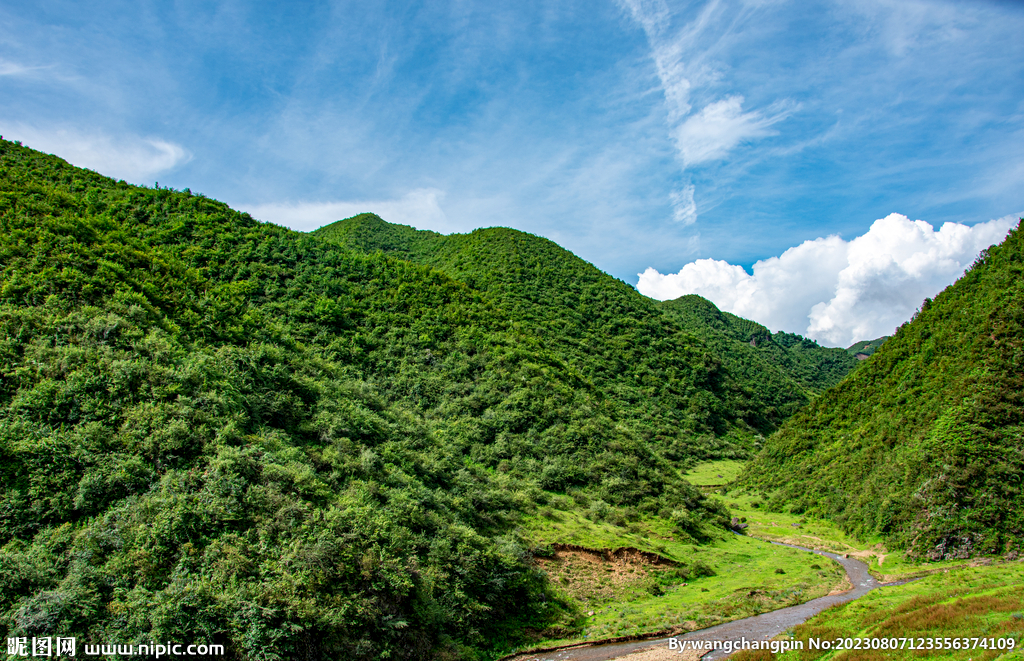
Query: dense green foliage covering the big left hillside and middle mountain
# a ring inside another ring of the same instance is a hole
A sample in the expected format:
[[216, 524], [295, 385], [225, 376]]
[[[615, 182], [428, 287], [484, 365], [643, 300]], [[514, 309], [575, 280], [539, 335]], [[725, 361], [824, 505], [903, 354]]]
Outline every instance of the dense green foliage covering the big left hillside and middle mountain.
[[627, 285], [479, 235], [521, 260], [439, 253], [462, 281], [0, 142], [0, 628], [473, 656], [571, 619], [516, 531], [546, 492], [722, 525], [673, 461], [776, 418]]

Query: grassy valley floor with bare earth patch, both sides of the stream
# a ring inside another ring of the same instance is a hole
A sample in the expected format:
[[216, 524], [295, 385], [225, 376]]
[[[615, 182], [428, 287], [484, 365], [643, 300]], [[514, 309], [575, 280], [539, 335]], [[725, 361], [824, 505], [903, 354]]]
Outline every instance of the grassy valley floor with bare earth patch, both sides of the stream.
[[[706, 544], [679, 540], [671, 525], [659, 519], [622, 527], [594, 522], [579, 509], [554, 506], [529, 519], [527, 536], [549, 549], [539, 559], [541, 567], [584, 613], [574, 635], [549, 636], [537, 641], [532, 649], [636, 640], [658, 632], [683, 634], [850, 588], [838, 563], [769, 543], [775, 541], [859, 559], [880, 582], [910, 582], [884, 586], [856, 602], [829, 608], [780, 636], [803, 642], [803, 652], [784, 656], [742, 652], [735, 659], [1024, 659], [1020, 652], [1024, 562], [975, 559], [915, 564], [878, 540], [845, 535], [828, 522], [763, 511], [757, 497], [730, 491], [729, 483], [740, 470], [738, 461], [719, 461], [696, 467], [686, 476], [748, 524], [744, 535], [724, 534]], [[564, 506], [569, 500], [554, 504]], [[633, 550], [604, 553], [615, 548]], [[1004, 642], [996, 643], [994, 650], [807, 649], [809, 638], [828, 636], [1001, 636]], [[1010, 641], [1013, 650], [998, 649]], [[653, 656], [640, 658], [630, 653], [621, 658], [656, 661], [664, 655], [683, 659], [692, 656], [692, 651], [684, 656], [657, 648], [643, 654]], [[575, 656], [565, 653], [562, 658]]]

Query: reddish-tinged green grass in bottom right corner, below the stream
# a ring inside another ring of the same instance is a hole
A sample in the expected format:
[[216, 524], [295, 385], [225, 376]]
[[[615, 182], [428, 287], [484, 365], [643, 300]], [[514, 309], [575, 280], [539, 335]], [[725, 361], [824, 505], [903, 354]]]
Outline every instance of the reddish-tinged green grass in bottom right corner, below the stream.
[[[833, 607], [797, 626], [793, 635], [805, 649], [777, 658], [786, 661], [833, 659], [1022, 659], [1024, 643], [1024, 563], [953, 569], [905, 585], [879, 588]], [[1012, 637], [1015, 650], [886, 650], [859, 653], [807, 649], [808, 638], [837, 637]], [[739, 657], [737, 657], [739, 658]]]

